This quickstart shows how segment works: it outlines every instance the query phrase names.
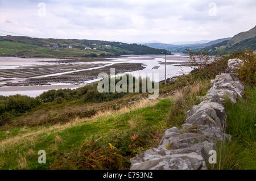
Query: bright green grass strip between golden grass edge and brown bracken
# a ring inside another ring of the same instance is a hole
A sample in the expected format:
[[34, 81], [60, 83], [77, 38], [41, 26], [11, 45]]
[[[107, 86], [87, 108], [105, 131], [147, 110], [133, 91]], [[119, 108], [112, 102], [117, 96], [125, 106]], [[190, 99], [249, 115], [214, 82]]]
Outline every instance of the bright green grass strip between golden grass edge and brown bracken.
[[[146, 105], [154, 103], [148, 102]], [[23, 167], [23, 169], [46, 169], [53, 162], [57, 153], [70, 151], [92, 136], [108, 137], [109, 134], [118, 130], [133, 129], [134, 126], [137, 129], [142, 126], [160, 128], [164, 125], [164, 116], [167, 115], [170, 106], [170, 99], [163, 99], [154, 106], [146, 106], [144, 108], [139, 108], [140, 106], [138, 106], [136, 110], [130, 108], [112, 112], [111, 115], [106, 113], [90, 121], [77, 120], [74, 123], [65, 125], [55, 125], [49, 128], [42, 127], [36, 131], [27, 132], [30, 136], [26, 137], [23, 137], [25, 135], [23, 133], [18, 137], [1, 143], [1, 169], [22, 168], [22, 164], [17, 163], [19, 161], [23, 162], [24, 158], [26, 158], [27, 166]], [[59, 136], [62, 141], [56, 142], [56, 136]], [[28, 149], [34, 151], [46, 150], [47, 164], [39, 165], [37, 162], [38, 155], [27, 155]], [[19, 154], [20, 156], [18, 156]]]

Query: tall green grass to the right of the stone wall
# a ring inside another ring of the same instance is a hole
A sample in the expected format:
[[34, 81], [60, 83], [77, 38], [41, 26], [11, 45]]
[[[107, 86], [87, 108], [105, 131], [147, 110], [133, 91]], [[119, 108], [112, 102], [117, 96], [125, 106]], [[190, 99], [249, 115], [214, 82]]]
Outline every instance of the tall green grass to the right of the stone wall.
[[255, 117], [256, 89], [246, 85], [245, 95], [235, 105], [226, 103], [226, 133], [232, 140], [218, 145], [214, 169], [256, 169]]

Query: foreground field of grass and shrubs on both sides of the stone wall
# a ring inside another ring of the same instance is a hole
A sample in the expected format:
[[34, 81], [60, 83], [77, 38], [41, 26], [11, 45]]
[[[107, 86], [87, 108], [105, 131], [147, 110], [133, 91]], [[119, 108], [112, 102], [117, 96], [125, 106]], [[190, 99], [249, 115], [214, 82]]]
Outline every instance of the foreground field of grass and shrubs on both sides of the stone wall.
[[[180, 128], [186, 111], [200, 103], [210, 79], [226, 70], [232, 56], [167, 85], [160, 82], [154, 100], [148, 93], [99, 93], [97, 84], [35, 99], [0, 97], [0, 169], [129, 169], [131, 157], [158, 145], [166, 129]], [[220, 142], [212, 169], [255, 169], [255, 76], [249, 75], [245, 96], [235, 105], [226, 102], [232, 141]], [[46, 164], [38, 163], [39, 150], [46, 151]]]

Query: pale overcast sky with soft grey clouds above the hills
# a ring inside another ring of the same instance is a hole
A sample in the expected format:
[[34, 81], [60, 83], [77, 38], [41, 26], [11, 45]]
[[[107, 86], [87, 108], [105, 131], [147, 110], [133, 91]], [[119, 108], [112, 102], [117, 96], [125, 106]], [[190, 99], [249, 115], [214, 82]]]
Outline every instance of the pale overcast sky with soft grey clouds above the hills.
[[214, 40], [250, 30], [255, 17], [255, 0], [0, 0], [0, 35], [127, 43]]

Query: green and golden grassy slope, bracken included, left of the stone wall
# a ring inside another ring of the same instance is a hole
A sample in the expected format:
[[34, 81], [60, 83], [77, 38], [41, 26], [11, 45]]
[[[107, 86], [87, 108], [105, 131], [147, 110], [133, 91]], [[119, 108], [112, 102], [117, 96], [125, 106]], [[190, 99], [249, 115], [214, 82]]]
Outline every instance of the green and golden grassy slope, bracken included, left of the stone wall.
[[[194, 99], [207, 88], [207, 83], [194, 83], [183, 94], [184, 97], [195, 94]], [[186, 92], [191, 93], [185, 96]], [[119, 110], [98, 111], [91, 118], [76, 117], [65, 124], [2, 131], [0, 169], [129, 169], [130, 157], [157, 146], [167, 128], [184, 123], [185, 119], [171, 125], [166, 119], [179, 103], [177, 97], [175, 94], [159, 100], [141, 99]], [[186, 101], [184, 99], [184, 104]], [[184, 107], [184, 114], [185, 111]], [[38, 163], [39, 150], [46, 150], [46, 164]], [[85, 158], [92, 159], [88, 153], [102, 159], [95, 158], [84, 165]], [[106, 157], [111, 157], [112, 162], [103, 159]]]

